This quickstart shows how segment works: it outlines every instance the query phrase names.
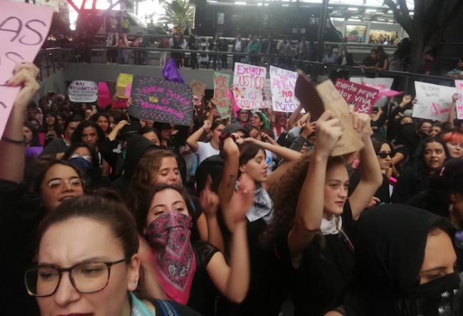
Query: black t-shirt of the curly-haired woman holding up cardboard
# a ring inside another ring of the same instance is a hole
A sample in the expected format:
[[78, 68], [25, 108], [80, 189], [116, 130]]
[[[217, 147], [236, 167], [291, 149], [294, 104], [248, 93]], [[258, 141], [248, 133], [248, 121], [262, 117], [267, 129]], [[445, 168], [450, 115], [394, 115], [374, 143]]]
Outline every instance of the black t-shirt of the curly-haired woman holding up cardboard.
[[[348, 203], [342, 218], [343, 231], [350, 236], [354, 221]], [[316, 236], [303, 251], [301, 265], [295, 269], [288, 248], [288, 233], [279, 236], [276, 251], [290, 278], [294, 315], [323, 315], [341, 305], [354, 265], [350, 241], [341, 233]]]

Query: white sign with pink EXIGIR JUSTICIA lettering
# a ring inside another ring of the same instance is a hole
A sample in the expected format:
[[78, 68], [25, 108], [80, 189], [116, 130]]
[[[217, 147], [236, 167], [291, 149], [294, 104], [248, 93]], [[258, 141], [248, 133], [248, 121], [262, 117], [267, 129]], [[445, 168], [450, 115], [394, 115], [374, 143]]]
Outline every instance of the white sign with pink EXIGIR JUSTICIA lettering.
[[233, 94], [239, 108], [251, 110], [271, 107], [271, 102], [264, 100], [262, 93], [266, 73], [264, 67], [235, 63]]

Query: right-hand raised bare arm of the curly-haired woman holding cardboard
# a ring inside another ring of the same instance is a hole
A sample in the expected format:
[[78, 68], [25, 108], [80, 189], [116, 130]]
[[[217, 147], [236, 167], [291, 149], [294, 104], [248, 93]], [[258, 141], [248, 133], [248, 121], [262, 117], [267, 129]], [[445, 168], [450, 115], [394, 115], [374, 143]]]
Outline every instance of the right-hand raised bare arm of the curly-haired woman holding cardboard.
[[383, 175], [371, 142], [370, 117], [365, 114], [353, 113], [353, 120], [354, 128], [360, 132], [364, 144], [363, 149], [360, 150], [360, 182], [349, 199], [352, 216], [356, 219], [368, 206], [372, 196], [383, 183]]

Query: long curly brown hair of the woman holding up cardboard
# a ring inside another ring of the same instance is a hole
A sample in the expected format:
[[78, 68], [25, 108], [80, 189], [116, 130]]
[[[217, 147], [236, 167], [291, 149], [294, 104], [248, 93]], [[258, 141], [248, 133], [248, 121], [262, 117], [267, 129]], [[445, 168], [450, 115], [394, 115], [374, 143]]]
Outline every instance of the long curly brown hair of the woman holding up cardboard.
[[[272, 246], [279, 233], [289, 231], [293, 227], [299, 194], [306, 179], [312, 154], [313, 150], [303, 154], [296, 162], [291, 162], [293, 167], [281, 177], [280, 181], [276, 181], [269, 188], [269, 194], [274, 201], [274, 216], [265, 231], [261, 234], [261, 242], [264, 246]], [[345, 164], [345, 160], [340, 156], [331, 157], [328, 159], [326, 169], [333, 164]]]

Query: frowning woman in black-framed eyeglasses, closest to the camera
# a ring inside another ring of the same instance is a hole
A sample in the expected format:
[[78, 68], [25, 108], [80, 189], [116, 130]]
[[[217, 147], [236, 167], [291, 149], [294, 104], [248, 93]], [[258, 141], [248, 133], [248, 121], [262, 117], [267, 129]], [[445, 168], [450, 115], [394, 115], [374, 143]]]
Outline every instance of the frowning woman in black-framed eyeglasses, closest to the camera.
[[199, 315], [135, 295], [143, 288], [138, 247], [135, 221], [123, 204], [100, 196], [66, 201], [38, 228], [35, 263], [24, 274], [28, 294], [41, 316]]

